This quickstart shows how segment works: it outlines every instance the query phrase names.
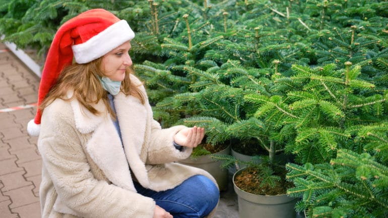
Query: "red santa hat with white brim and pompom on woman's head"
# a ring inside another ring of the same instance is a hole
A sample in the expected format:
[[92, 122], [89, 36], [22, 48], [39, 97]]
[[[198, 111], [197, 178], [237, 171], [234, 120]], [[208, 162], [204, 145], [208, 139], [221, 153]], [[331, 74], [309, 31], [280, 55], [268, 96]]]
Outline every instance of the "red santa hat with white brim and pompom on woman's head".
[[[74, 17], [59, 27], [48, 50], [38, 92], [38, 106], [51, 87], [55, 85], [61, 70], [72, 64], [95, 60], [122, 43], [135, 37], [125, 20], [120, 20], [104, 9], [92, 9]], [[27, 131], [38, 136], [41, 112], [28, 122]]]

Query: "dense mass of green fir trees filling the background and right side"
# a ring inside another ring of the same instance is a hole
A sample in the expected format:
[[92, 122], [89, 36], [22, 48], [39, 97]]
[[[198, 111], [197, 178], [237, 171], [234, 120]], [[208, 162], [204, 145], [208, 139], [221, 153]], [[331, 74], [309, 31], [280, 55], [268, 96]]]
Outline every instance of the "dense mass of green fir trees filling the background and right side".
[[288, 193], [309, 217], [388, 216], [386, 1], [0, 0], [0, 33], [44, 56], [92, 8], [136, 32], [136, 74], [164, 127], [295, 155]]

